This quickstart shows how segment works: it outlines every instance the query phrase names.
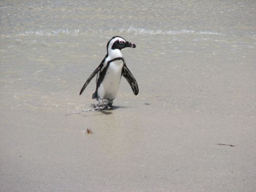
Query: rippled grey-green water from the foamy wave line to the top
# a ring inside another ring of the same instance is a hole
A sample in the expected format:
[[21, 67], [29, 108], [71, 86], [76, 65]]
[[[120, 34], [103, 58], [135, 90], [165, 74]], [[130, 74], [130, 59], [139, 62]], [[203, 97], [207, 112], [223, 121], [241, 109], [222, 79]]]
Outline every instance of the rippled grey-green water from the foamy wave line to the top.
[[223, 33], [255, 35], [254, 1], [2, 1], [1, 33]]

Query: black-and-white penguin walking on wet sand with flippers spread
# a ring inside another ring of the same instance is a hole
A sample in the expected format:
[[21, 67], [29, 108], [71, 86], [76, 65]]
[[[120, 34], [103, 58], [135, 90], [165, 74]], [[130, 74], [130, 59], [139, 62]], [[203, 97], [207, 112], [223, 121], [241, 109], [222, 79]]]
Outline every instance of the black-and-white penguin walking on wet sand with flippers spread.
[[113, 100], [116, 98], [121, 76], [129, 82], [134, 95], [138, 95], [137, 81], [127, 68], [121, 53], [121, 49], [126, 47], [136, 48], [136, 45], [120, 36], [114, 36], [109, 40], [106, 45], [107, 53], [105, 57], [83, 84], [79, 95], [82, 94], [96, 74], [96, 90], [92, 98], [98, 100], [98, 106], [103, 106], [102, 109], [113, 109]]

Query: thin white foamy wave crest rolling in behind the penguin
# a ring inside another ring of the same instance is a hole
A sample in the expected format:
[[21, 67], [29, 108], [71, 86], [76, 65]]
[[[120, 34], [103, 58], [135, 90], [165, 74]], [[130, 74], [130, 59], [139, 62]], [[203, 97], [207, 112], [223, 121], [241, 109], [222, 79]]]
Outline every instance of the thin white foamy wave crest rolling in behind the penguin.
[[153, 30], [153, 29], [143, 29], [143, 28], [127, 28], [127, 29], [90, 29], [90, 30], [80, 30], [80, 29], [56, 29], [52, 31], [47, 30], [28, 30], [25, 32], [20, 32], [17, 34], [1, 34], [2, 37], [16, 37], [16, 36], [56, 36], [61, 34], [69, 34], [71, 36], [79, 36], [86, 33], [110, 33], [110, 32], [120, 32], [120, 33], [134, 33], [134, 34], [151, 34], [151, 35], [179, 35], [179, 34], [197, 34], [197, 35], [223, 35], [222, 33], [216, 33], [211, 31], [194, 31], [194, 30]]

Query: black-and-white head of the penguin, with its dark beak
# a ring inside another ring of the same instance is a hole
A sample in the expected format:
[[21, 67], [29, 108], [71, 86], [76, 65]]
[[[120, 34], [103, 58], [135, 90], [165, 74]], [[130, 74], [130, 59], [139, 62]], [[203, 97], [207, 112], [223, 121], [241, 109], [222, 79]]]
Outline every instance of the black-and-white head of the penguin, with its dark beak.
[[110, 41], [106, 45], [106, 49], [107, 49], [108, 53], [111, 50], [116, 50], [116, 49], [121, 50], [126, 47], [136, 48], [136, 45], [132, 44], [129, 41], [126, 41], [124, 38], [122, 38], [120, 36], [112, 37], [112, 39], [110, 39]]

